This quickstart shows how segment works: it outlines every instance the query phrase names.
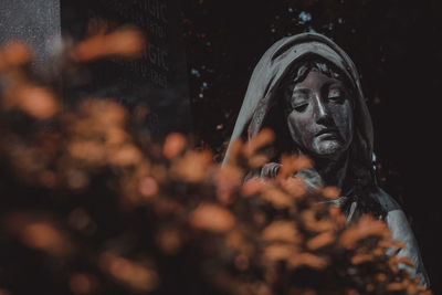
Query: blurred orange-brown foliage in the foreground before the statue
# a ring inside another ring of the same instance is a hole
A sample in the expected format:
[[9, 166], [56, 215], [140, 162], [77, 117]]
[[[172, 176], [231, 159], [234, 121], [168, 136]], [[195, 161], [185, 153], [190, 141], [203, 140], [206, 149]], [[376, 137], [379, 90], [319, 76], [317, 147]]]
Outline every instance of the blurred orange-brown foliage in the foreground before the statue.
[[[136, 54], [134, 36], [86, 40], [64, 64]], [[0, 51], [0, 294], [429, 293], [398, 268], [409, 260], [385, 254], [403, 245], [383, 222], [347, 226], [323, 202], [336, 189], [307, 193], [292, 177], [308, 159], [243, 183], [271, 131], [220, 167], [179, 134], [139, 136], [146, 110], [93, 98], [61, 109], [30, 60], [20, 43]]]

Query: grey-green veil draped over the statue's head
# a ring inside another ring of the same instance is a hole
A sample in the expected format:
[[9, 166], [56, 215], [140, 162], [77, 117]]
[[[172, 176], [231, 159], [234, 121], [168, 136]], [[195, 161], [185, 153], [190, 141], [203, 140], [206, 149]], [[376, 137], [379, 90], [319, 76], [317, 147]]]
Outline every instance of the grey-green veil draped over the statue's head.
[[356, 89], [356, 97], [352, 97], [356, 119], [355, 139], [361, 144], [364, 158], [371, 161], [372, 124], [355, 64], [344, 50], [325, 35], [302, 33], [277, 41], [264, 53], [255, 66], [225, 152], [224, 164], [228, 161], [231, 146], [236, 139], [248, 140], [263, 128], [274, 99], [278, 98], [281, 81], [292, 65], [311, 54], [318, 55], [334, 64]]

